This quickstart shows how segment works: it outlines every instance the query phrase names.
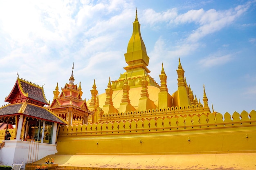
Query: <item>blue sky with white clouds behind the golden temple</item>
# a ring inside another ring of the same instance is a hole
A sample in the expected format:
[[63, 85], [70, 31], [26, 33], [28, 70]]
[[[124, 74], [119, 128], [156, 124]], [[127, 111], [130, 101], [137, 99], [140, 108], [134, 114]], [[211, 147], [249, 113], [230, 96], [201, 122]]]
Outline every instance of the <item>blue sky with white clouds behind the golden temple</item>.
[[52, 101], [73, 62], [83, 99], [91, 98], [94, 79], [104, 93], [108, 77], [125, 72], [136, 8], [158, 84], [163, 62], [169, 93], [177, 90], [180, 57], [194, 95], [202, 102], [205, 85], [214, 111], [256, 109], [256, 0], [0, 1], [0, 105], [17, 72], [44, 84]]

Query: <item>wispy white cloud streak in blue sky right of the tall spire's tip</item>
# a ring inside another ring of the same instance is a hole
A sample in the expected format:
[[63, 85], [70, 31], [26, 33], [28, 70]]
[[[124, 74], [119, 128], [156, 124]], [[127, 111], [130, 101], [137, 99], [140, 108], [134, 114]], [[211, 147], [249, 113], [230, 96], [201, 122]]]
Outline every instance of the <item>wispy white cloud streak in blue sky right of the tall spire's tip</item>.
[[247, 11], [250, 5], [251, 2], [247, 2], [247, 4], [239, 5], [225, 11], [216, 11], [216, 9], [209, 9], [208, 11], [204, 11], [203, 9], [189, 10], [180, 15], [178, 15], [176, 8], [159, 13], [153, 9], [146, 9], [143, 11], [143, 22], [153, 27], [160, 22], [169, 22], [170, 24], [176, 25], [195, 23], [197, 29], [193, 30], [186, 38], [186, 41], [193, 43], [231, 24], [236, 18]]

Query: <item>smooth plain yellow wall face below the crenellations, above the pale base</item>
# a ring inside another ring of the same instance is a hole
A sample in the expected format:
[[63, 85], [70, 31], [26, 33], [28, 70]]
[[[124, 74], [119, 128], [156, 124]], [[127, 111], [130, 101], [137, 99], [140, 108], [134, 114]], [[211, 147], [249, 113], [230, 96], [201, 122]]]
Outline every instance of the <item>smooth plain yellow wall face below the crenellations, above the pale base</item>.
[[[166, 135], [166, 136], [165, 136]], [[256, 131], [119, 136], [58, 141], [58, 154], [175, 154], [256, 152]], [[249, 136], [249, 139], [246, 138]], [[141, 141], [141, 143], [140, 143]]]

